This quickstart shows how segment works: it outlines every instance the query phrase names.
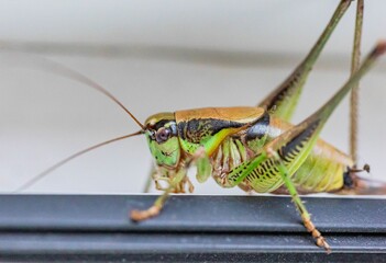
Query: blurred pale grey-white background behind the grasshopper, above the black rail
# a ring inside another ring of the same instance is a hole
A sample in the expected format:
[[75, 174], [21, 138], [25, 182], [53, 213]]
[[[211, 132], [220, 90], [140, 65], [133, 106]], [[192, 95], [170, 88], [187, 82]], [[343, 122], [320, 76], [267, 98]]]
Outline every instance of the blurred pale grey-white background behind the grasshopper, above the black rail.
[[[142, 122], [201, 106], [255, 105], [304, 58], [338, 0], [0, 1], [0, 191], [58, 160], [139, 127], [100, 93], [33, 70], [31, 54], [59, 61], [115, 94]], [[315, 67], [294, 123], [326, 102], [350, 71], [356, 2]], [[386, 2], [365, 2], [363, 54], [386, 38]], [[10, 53], [9, 50], [18, 50]], [[21, 53], [21, 52], [25, 53]], [[362, 163], [385, 180], [386, 59], [362, 81]], [[345, 101], [322, 137], [348, 151]], [[150, 171], [144, 138], [107, 146], [25, 192], [140, 193]], [[212, 181], [196, 193], [242, 194]]]

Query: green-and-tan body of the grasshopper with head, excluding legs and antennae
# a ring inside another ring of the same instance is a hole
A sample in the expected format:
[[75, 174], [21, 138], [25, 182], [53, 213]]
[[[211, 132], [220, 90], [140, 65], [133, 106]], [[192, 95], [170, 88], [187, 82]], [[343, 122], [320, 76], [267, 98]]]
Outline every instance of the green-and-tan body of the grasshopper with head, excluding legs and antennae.
[[[197, 108], [157, 114], [147, 119], [146, 127], [151, 152], [159, 167], [155, 180], [173, 178], [201, 147], [206, 158], [197, 161], [199, 182], [211, 174], [222, 187], [238, 185], [258, 193], [277, 191], [284, 184], [271, 160], [254, 165], [264, 147], [293, 127], [264, 108]], [[165, 128], [169, 130], [165, 141], [157, 140], [157, 127], [163, 133]], [[344, 186], [344, 172], [353, 164], [348, 156], [322, 140], [308, 140], [299, 155], [299, 144], [287, 145], [283, 158], [300, 192], [334, 192]], [[245, 171], [246, 176], [239, 176], [239, 171]]]

